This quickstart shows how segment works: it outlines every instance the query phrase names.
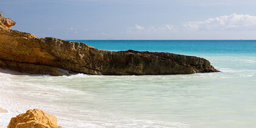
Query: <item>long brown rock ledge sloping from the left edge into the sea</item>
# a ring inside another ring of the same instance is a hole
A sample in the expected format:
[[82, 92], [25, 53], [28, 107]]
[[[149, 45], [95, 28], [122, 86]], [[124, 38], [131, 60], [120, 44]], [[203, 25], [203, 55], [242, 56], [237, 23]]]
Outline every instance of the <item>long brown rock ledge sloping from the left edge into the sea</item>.
[[218, 72], [208, 60], [164, 52], [104, 51], [84, 43], [37, 38], [9, 27], [0, 17], [0, 67], [22, 73], [104, 75], [190, 74]]

